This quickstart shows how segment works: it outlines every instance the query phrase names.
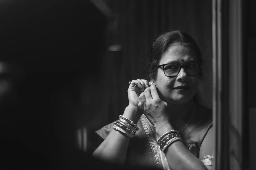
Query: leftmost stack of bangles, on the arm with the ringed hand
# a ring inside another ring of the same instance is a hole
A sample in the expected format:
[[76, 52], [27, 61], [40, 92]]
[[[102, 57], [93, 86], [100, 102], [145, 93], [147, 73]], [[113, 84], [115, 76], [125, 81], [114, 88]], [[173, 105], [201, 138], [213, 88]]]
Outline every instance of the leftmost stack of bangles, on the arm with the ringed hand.
[[130, 138], [139, 130], [138, 126], [133, 121], [122, 115], [120, 115], [119, 120], [115, 122], [113, 129]]

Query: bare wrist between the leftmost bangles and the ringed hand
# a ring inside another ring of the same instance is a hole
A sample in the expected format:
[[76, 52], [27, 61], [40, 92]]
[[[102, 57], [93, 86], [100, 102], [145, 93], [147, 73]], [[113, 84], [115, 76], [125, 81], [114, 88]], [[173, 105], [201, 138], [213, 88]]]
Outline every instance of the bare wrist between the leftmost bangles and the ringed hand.
[[138, 106], [129, 105], [125, 108], [123, 116], [127, 117], [128, 119], [132, 120], [134, 123], [137, 124], [142, 112], [140, 111]]

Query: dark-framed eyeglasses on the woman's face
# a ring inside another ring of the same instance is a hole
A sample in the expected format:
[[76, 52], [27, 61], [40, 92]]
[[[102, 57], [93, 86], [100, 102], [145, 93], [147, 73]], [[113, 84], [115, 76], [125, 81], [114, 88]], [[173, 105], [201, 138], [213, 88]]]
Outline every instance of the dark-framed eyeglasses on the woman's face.
[[195, 76], [199, 74], [200, 66], [198, 63], [188, 63], [185, 65], [179, 64], [162, 64], [158, 65], [157, 67], [163, 67], [164, 75], [167, 77], [176, 77], [181, 68], [184, 68], [185, 72], [189, 76]]

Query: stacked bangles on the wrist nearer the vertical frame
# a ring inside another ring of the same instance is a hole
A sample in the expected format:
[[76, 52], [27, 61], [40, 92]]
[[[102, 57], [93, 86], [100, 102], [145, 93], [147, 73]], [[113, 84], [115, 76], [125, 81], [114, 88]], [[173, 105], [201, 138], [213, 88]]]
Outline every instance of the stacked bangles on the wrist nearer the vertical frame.
[[157, 140], [157, 145], [160, 146], [160, 150], [164, 153], [164, 150], [175, 141], [182, 141], [179, 131], [171, 130], [160, 136]]

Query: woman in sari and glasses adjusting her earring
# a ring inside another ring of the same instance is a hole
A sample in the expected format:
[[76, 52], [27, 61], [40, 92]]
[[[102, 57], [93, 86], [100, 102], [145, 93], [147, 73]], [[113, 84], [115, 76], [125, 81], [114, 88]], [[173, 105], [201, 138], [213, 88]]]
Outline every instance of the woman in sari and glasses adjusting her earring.
[[196, 100], [201, 64], [191, 36], [178, 30], [160, 35], [152, 45], [150, 82], [129, 82], [129, 105], [97, 131], [105, 140], [93, 156], [161, 169], [212, 169], [212, 114]]

